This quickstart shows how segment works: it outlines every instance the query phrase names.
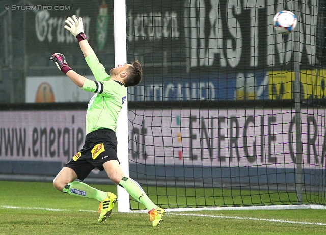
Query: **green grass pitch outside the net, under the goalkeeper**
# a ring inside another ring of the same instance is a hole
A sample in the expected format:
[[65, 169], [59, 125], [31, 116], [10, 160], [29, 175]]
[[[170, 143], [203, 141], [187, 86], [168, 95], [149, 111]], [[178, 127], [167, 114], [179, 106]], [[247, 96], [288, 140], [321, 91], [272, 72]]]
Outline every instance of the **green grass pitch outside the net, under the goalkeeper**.
[[118, 213], [116, 208], [111, 219], [98, 223], [96, 200], [58, 192], [51, 183], [0, 181], [0, 189], [0, 234], [326, 234], [326, 210], [167, 212], [154, 229], [147, 213]]

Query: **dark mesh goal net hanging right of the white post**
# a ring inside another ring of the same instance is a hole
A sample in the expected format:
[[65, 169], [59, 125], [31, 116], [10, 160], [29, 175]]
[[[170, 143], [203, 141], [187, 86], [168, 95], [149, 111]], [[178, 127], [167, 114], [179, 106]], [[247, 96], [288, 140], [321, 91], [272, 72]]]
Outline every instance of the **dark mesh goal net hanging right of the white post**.
[[[163, 208], [325, 205], [325, 1], [127, 0], [129, 175]], [[273, 17], [292, 11], [287, 35]], [[130, 198], [131, 209], [144, 209]]]

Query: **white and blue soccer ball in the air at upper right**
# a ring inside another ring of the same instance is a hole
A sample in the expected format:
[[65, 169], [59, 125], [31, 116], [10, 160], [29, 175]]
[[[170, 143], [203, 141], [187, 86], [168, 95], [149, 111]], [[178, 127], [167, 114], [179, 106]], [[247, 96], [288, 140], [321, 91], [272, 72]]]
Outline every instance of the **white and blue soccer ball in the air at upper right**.
[[289, 34], [297, 24], [296, 16], [290, 11], [280, 11], [273, 18], [274, 29], [277, 33]]

